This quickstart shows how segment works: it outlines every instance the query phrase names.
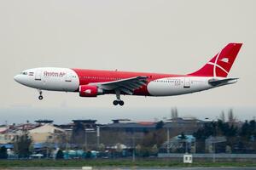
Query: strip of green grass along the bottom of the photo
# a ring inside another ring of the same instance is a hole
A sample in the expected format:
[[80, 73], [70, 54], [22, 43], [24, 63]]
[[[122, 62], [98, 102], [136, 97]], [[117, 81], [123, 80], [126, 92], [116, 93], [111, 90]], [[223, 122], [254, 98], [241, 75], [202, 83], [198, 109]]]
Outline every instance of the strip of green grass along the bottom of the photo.
[[246, 162], [182, 162], [166, 160], [1, 160], [0, 167], [256, 167], [256, 161]]

